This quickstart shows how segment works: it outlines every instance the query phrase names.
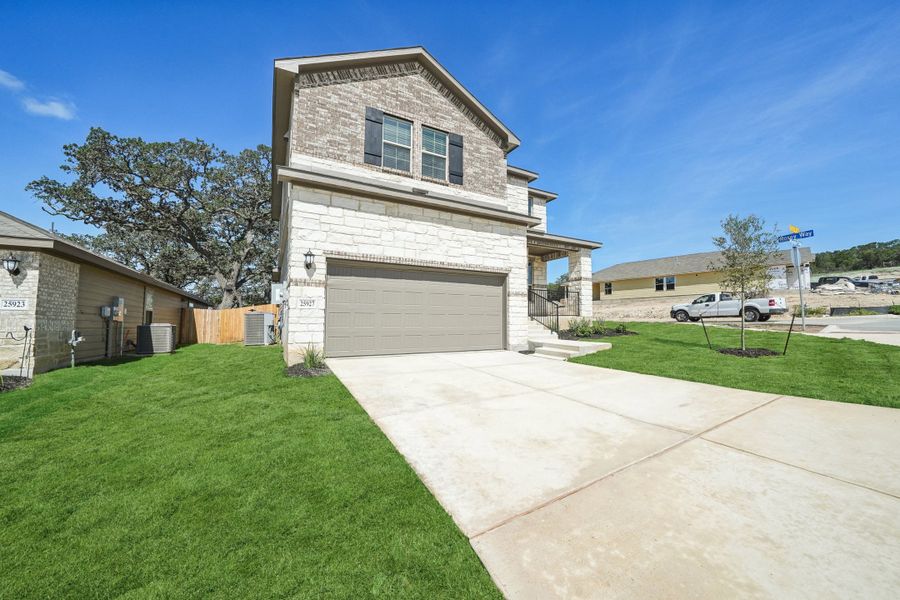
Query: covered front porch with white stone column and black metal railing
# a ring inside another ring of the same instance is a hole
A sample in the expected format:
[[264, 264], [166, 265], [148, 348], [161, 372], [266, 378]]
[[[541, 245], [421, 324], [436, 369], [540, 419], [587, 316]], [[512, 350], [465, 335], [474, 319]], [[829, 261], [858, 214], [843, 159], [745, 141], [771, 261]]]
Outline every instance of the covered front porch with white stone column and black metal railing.
[[[591, 251], [596, 242], [531, 231], [528, 242], [528, 317], [552, 332], [566, 317], [593, 316]], [[567, 280], [549, 285], [547, 263], [567, 258]]]

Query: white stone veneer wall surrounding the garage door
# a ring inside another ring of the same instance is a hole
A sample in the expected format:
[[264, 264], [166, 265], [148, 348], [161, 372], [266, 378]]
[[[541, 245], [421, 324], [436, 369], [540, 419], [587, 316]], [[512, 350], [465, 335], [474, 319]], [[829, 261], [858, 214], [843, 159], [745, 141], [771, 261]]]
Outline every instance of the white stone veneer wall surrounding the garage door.
[[[508, 347], [527, 347], [525, 226], [291, 186], [285, 359], [325, 341], [327, 257], [508, 273]], [[307, 250], [315, 254], [304, 266]]]

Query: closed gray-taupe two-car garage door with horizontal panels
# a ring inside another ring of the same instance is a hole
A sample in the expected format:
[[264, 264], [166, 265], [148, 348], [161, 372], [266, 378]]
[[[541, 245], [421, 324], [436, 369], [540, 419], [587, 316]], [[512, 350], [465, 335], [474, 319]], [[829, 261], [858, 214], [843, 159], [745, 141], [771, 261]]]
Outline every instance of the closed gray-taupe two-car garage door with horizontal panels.
[[328, 356], [497, 350], [504, 276], [329, 263]]

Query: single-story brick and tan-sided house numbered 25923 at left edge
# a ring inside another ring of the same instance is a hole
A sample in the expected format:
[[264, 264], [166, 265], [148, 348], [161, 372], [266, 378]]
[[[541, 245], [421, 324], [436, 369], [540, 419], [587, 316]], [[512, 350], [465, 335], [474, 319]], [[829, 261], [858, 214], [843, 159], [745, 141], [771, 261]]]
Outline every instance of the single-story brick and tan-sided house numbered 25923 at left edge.
[[[184, 290], [4, 212], [0, 259], [7, 263], [0, 268], [5, 375], [30, 377], [68, 365], [73, 330], [84, 337], [76, 348], [78, 362], [114, 357], [134, 347], [138, 325], [171, 323], [180, 332], [184, 310], [206, 306]], [[103, 307], [114, 305], [117, 315], [101, 315]]]

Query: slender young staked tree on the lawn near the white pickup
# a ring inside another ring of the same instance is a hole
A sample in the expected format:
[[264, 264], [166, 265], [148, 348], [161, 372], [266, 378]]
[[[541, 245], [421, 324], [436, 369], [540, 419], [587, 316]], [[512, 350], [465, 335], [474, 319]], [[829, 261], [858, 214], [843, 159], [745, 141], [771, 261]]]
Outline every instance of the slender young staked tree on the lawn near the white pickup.
[[778, 235], [766, 229], [766, 222], [756, 215], [728, 215], [722, 221], [722, 235], [714, 237], [713, 244], [722, 258], [710, 264], [710, 269], [721, 274], [722, 291], [740, 295], [741, 350], [746, 350], [744, 302], [751, 294], [768, 290], [769, 264], [778, 252]]

